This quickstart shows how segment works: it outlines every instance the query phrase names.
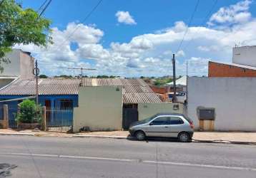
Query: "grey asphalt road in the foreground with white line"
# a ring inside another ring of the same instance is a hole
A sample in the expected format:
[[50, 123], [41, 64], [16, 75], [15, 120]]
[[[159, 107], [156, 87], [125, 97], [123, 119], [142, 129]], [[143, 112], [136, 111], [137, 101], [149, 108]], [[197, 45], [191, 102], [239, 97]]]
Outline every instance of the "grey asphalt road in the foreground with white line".
[[0, 177], [256, 177], [256, 146], [0, 136]]

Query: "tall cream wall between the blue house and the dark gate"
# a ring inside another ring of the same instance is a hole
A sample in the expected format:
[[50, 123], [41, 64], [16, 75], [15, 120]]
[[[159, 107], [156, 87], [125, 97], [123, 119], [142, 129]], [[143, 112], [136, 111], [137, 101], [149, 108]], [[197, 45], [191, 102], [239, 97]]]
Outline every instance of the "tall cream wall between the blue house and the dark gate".
[[122, 130], [122, 87], [79, 88], [79, 107], [74, 108], [73, 131]]

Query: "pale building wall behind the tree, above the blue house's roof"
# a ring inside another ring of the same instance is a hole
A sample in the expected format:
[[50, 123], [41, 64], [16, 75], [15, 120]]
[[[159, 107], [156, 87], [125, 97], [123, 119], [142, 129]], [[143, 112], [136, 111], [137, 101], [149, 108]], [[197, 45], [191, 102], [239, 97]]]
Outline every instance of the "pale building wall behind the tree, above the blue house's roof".
[[32, 70], [34, 68], [34, 58], [24, 51], [13, 49], [6, 54], [11, 63], [3, 63], [4, 71], [1, 77], [34, 78]]

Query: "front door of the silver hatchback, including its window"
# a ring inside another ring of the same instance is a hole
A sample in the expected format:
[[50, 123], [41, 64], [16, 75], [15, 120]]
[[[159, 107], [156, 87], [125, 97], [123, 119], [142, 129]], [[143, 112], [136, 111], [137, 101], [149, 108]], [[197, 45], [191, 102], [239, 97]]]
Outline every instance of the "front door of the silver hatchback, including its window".
[[169, 120], [168, 116], [156, 117], [147, 127], [147, 136], [149, 137], [169, 137]]

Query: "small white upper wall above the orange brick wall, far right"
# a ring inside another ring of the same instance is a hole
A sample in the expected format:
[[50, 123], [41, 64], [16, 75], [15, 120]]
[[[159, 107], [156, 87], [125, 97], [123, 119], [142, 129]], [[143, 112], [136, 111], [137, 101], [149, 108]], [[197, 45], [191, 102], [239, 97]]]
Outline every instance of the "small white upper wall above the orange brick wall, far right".
[[233, 48], [233, 63], [256, 67], [256, 46]]

